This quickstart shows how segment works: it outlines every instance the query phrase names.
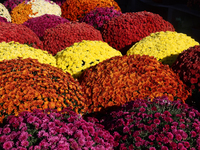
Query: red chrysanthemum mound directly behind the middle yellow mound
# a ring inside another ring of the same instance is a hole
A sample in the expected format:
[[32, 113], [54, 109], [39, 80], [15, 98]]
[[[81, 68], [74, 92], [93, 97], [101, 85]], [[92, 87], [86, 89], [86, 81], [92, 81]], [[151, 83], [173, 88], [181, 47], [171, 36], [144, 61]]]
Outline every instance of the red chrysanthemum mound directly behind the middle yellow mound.
[[47, 29], [43, 36], [44, 49], [53, 55], [82, 40], [103, 41], [100, 31], [85, 22], [59, 24]]

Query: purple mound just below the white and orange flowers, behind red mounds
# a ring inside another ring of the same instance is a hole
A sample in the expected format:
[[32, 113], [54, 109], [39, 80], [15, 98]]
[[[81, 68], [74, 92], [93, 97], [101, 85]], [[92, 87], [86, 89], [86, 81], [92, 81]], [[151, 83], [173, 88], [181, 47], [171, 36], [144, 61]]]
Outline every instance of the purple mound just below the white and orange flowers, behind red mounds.
[[70, 22], [69, 20], [56, 16], [45, 14], [40, 17], [31, 18], [23, 25], [29, 27], [42, 40], [46, 29], [56, 27], [58, 24]]

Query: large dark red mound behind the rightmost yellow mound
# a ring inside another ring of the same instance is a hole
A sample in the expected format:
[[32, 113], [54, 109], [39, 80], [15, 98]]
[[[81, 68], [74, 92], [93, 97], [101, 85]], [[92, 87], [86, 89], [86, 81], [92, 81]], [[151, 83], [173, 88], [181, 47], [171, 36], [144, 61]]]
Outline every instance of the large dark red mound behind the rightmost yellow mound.
[[160, 15], [142, 11], [123, 13], [110, 19], [102, 26], [101, 33], [105, 42], [126, 54], [133, 44], [151, 33], [174, 30], [173, 25]]

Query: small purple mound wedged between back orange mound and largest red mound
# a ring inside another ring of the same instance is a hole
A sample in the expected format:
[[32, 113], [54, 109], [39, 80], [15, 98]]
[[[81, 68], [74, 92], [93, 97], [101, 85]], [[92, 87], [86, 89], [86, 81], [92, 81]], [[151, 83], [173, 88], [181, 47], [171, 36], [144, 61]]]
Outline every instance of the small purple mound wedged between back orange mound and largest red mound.
[[113, 17], [120, 16], [121, 11], [115, 10], [114, 7], [104, 7], [91, 10], [83, 18], [80, 18], [80, 22], [85, 22], [92, 25], [96, 29], [100, 30], [103, 24], [109, 21]]

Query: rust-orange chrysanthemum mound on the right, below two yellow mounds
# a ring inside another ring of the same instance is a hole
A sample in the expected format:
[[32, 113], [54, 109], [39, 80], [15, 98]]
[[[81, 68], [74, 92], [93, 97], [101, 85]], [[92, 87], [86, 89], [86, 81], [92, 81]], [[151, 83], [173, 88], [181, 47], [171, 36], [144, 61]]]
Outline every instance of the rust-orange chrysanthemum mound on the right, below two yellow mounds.
[[87, 94], [89, 112], [103, 111], [138, 98], [167, 96], [185, 100], [190, 95], [168, 65], [148, 55], [116, 56], [86, 69], [79, 78]]

